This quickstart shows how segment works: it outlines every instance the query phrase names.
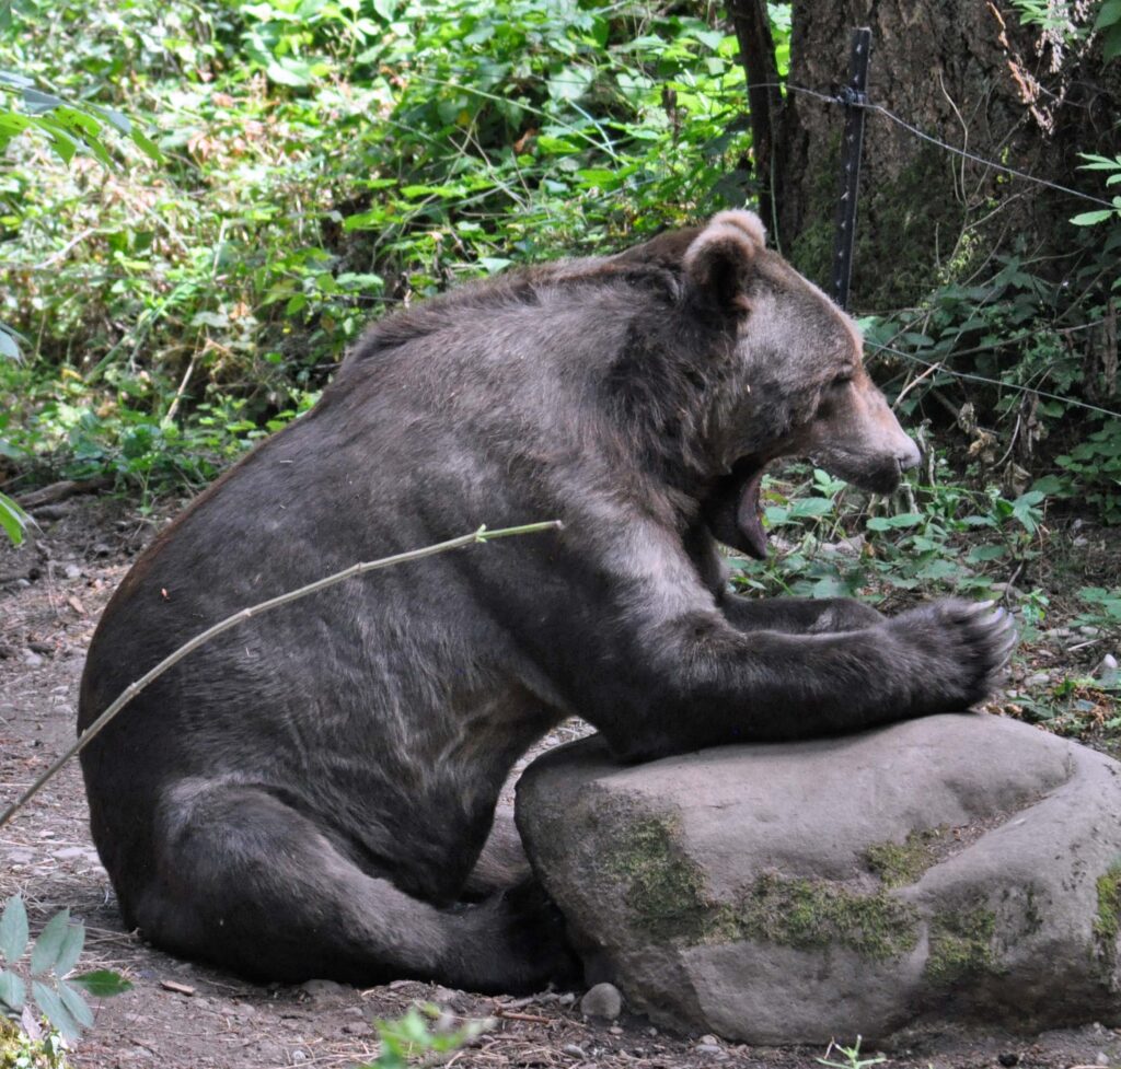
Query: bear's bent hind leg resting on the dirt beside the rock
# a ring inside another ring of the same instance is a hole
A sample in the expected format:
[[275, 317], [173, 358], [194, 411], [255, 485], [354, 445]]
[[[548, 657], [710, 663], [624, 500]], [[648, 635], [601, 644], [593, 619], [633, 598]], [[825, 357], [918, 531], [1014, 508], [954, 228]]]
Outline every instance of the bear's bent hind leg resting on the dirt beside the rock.
[[[571, 969], [544, 900], [502, 894], [442, 910], [372, 876], [265, 789], [180, 784], [127, 913], [147, 938], [258, 979], [432, 979], [534, 991]], [[132, 880], [119, 885], [136, 886]]]

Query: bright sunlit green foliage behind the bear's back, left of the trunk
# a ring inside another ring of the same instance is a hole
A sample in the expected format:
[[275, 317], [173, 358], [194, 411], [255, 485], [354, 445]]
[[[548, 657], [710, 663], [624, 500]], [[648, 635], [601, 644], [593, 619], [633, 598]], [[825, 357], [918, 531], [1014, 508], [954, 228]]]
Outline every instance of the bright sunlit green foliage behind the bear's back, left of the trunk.
[[193, 480], [198, 406], [238, 406], [257, 427], [298, 412], [371, 314], [515, 260], [613, 251], [753, 188], [735, 40], [685, 11], [575, 0], [22, 0], [19, 11], [0, 66], [52, 80], [96, 114], [151, 115], [166, 156], [124, 176], [81, 158], [0, 174], [13, 283], [0, 319], [34, 340], [29, 371], [0, 363], [0, 394], [55, 396], [98, 425], [80, 429], [95, 448], [76, 455], [74, 427], [53, 419], [65, 409], [16, 401], [0, 449], [21, 464], [80, 459], [142, 481], [147, 459], [140, 472], [122, 463], [141, 420], [151, 466]]

